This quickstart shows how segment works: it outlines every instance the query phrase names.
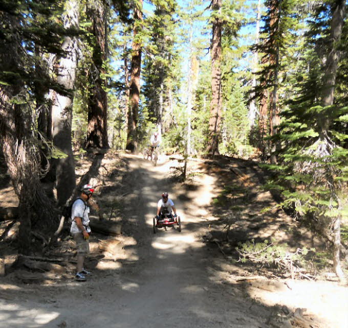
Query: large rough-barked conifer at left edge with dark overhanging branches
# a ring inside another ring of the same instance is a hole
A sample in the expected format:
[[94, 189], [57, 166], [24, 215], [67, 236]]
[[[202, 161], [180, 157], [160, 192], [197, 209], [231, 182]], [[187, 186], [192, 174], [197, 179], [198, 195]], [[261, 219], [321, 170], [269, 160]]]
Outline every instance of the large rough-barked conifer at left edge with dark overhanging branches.
[[[40, 142], [33, 82], [35, 49], [60, 53], [63, 29], [55, 23], [56, 3], [3, 1], [0, 10], [0, 134], [2, 150], [19, 200], [19, 245], [30, 252], [30, 231], [50, 232], [57, 223], [53, 204], [40, 185]], [[60, 34], [59, 34], [60, 33]], [[43, 83], [54, 85], [44, 72]]]

